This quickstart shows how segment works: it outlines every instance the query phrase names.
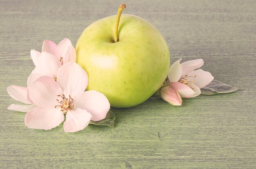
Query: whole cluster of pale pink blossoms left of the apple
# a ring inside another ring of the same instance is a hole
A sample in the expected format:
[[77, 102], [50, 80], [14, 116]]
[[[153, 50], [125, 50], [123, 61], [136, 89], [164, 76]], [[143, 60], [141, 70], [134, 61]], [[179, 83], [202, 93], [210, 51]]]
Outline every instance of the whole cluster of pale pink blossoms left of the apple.
[[64, 131], [76, 132], [87, 127], [90, 120], [106, 117], [110, 103], [98, 91], [85, 91], [88, 76], [75, 63], [76, 51], [69, 39], [58, 45], [45, 40], [41, 52], [30, 53], [35, 69], [27, 79], [27, 87], [7, 87], [13, 99], [25, 104], [13, 104], [8, 109], [27, 112], [27, 127], [48, 130], [64, 121]]

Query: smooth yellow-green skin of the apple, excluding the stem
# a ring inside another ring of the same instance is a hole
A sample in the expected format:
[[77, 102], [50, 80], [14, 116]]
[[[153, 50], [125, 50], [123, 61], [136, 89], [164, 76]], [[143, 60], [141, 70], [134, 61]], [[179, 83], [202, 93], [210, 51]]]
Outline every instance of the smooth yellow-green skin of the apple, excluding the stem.
[[163, 84], [170, 53], [161, 33], [148, 21], [122, 14], [118, 42], [116, 15], [90, 24], [76, 43], [76, 62], [88, 73], [86, 90], [97, 90], [111, 107], [139, 105]]

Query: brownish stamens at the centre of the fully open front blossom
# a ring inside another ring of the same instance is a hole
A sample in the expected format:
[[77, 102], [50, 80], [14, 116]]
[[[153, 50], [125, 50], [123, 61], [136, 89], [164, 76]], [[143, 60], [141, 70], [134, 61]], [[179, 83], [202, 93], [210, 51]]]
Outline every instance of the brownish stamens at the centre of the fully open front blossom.
[[56, 107], [60, 107], [61, 108], [61, 111], [64, 113], [64, 114], [67, 114], [67, 111], [68, 110], [72, 110], [74, 108], [74, 99], [71, 98], [71, 96], [69, 95], [69, 98], [66, 98], [64, 94], [61, 95], [57, 95], [58, 97], [61, 97], [61, 101], [56, 99], [57, 102], [60, 104], [60, 105], [56, 105], [54, 108]]

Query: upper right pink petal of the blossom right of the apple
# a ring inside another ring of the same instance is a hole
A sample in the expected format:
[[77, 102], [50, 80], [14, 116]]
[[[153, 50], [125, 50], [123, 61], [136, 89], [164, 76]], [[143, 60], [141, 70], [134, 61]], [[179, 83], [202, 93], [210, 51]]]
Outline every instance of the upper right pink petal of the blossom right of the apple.
[[204, 60], [202, 59], [195, 59], [195, 60], [189, 60], [189, 61], [183, 62], [181, 64], [182, 76], [188, 74], [190, 71], [193, 71], [195, 69], [202, 67], [203, 64], [204, 64]]

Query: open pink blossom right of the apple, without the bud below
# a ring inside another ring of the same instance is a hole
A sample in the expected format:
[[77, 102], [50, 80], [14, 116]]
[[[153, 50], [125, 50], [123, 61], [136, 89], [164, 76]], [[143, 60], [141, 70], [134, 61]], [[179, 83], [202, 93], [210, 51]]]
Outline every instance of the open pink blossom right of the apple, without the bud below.
[[208, 71], [198, 69], [204, 64], [202, 59], [190, 60], [182, 64], [180, 60], [174, 62], [169, 69], [170, 87], [175, 89], [181, 98], [200, 95], [200, 89], [208, 85], [213, 80], [213, 76]]

